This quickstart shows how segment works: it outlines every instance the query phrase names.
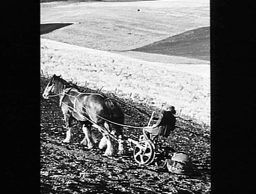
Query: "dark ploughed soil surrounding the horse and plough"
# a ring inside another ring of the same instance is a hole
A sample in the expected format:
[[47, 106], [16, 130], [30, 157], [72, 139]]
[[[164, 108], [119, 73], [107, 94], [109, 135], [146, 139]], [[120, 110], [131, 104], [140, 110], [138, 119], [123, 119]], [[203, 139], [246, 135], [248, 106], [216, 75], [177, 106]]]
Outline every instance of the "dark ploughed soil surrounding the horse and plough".
[[[188, 153], [195, 172], [177, 175], [154, 165], [140, 166], [128, 145], [125, 156], [103, 157], [99, 149], [87, 149], [79, 142], [84, 138], [81, 124], [72, 121], [74, 143], [62, 143], [65, 138], [63, 115], [59, 98], [42, 97], [47, 79], [41, 78], [41, 193], [210, 193], [211, 156], [210, 128], [177, 117], [176, 129], [165, 144]], [[96, 92], [80, 88], [81, 92]], [[146, 126], [152, 111], [147, 104], [124, 100], [114, 94], [105, 94], [115, 100], [125, 113], [125, 124]], [[93, 128], [98, 139], [101, 134]], [[141, 130], [125, 128], [125, 135], [138, 140]]]

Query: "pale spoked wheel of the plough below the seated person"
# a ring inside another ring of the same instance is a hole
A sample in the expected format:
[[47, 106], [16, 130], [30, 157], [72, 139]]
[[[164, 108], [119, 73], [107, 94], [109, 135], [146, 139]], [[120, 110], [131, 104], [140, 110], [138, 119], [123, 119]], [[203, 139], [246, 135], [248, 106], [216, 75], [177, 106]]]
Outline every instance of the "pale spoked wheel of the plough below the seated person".
[[135, 161], [140, 165], [149, 165], [155, 158], [154, 145], [150, 140], [142, 140], [133, 151]]

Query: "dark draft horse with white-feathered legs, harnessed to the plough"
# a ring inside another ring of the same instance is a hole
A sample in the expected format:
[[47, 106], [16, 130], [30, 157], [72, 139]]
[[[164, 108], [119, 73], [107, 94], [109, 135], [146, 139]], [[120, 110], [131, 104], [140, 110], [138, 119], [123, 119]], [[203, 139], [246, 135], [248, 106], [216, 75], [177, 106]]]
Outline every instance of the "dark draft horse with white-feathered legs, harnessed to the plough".
[[82, 123], [85, 137], [81, 144], [90, 149], [96, 146], [97, 139], [91, 130], [92, 126], [96, 126], [99, 130], [104, 129], [101, 131], [103, 138], [99, 142], [100, 149], [106, 147], [104, 155], [111, 156], [117, 150], [117, 141], [113, 139], [113, 134], [119, 138], [118, 154], [125, 154], [122, 126], [113, 124], [114, 130], [110, 133], [108, 122], [124, 124], [124, 113], [117, 103], [101, 94], [82, 93], [76, 85], [68, 83], [56, 74], [52, 76], [43, 93], [45, 99], [53, 96], [60, 98], [59, 106], [66, 124], [66, 139], [63, 142], [73, 142], [70, 126], [73, 117]]

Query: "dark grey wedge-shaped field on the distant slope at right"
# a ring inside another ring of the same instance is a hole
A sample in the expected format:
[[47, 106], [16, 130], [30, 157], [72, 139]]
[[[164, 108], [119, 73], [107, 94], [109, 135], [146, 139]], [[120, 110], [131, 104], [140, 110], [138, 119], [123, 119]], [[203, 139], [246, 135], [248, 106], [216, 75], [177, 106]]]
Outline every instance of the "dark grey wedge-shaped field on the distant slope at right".
[[210, 27], [192, 29], [132, 51], [210, 60]]

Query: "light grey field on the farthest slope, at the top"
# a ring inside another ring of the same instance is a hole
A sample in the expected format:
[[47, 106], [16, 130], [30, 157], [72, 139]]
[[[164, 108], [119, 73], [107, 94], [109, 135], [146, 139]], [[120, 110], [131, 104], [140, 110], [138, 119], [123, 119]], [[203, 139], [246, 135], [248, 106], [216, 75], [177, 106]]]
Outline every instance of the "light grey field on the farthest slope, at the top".
[[40, 19], [75, 23], [42, 38], [109, 51], [136, 49], [210, 23], [205, 0], [41, 3]]

